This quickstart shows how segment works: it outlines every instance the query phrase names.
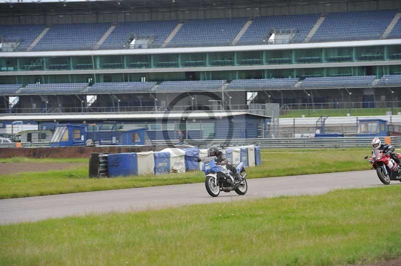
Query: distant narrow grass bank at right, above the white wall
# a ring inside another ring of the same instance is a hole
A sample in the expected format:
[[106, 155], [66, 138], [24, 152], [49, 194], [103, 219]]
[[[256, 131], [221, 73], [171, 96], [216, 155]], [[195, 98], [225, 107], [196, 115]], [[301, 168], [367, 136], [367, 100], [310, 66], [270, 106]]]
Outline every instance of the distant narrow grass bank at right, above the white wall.
[[[315, 109], [315, 110], [291, 110], [286, 113], [281, 113], [280, 117], [319, 117], [321, 115], [329, 116], [346, 116], [349, 113], [351, 116], [362, 115], [385, 115], [386, 111], [391, 111], [391, 108], [358, 108], [358, 109]], [[394, 114], [401, 111], [401, 108], [394, 108]]]

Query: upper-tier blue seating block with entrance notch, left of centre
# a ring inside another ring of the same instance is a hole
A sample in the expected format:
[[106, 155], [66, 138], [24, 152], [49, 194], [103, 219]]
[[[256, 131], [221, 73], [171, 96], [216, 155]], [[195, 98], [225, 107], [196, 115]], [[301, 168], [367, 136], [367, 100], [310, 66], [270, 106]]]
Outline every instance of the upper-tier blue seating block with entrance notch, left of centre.
[[152, 47], [158, 47], [176, 25], [176, 20], [118, 23], [100, 48], [121, 49], [133, 35], [154, 37]]

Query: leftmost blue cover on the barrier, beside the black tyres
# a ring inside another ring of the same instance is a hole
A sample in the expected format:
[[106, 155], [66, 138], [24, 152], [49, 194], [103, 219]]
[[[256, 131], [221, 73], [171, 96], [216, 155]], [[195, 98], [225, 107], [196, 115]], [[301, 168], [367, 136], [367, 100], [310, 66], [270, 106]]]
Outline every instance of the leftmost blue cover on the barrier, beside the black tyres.
[[138, 160], [135, 152], [108, 155], [109, 177], [138, 175]]

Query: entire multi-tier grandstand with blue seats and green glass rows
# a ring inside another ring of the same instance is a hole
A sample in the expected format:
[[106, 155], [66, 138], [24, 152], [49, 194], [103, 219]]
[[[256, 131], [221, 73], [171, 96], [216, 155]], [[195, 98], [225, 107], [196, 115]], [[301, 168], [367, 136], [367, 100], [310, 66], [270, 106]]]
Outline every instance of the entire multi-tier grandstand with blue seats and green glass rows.
[[397, 0], [149, 4], [0, 3], [0, 112], [389, 107], [401, 98]]

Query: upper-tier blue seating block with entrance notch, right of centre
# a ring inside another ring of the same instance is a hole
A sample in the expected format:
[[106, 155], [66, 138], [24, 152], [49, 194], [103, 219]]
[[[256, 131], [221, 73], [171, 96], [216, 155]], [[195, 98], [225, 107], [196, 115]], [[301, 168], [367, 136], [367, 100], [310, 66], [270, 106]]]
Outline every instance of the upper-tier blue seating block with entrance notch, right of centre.
[[273, 29], [295, 29], [296, 34], [292, 42], [302, 42], [318, 18], [318, 14], [256, 17], [238, 44], [266, 44], [263, 40], [267, 41]]

